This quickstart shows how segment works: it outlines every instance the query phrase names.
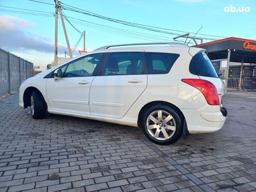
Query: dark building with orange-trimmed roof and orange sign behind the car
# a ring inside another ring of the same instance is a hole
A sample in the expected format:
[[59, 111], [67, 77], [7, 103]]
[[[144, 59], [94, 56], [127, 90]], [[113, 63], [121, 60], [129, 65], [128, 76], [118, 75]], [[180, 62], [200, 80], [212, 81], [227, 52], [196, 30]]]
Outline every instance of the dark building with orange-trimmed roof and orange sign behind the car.
[[256, 90], [255, 40], [230, 37], [199, 44], [198, 47], [207, 50], [227, 88]]

